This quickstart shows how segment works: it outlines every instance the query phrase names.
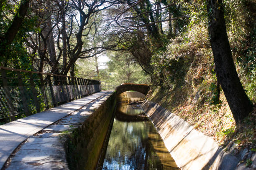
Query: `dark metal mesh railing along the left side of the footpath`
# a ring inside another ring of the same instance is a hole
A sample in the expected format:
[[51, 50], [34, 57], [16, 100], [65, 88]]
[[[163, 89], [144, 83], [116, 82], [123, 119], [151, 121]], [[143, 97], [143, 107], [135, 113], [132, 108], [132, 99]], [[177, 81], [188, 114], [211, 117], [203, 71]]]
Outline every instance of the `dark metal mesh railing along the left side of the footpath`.
[[101, 90], [97, 80], [0, 66], [0, 120], [31, 115]]

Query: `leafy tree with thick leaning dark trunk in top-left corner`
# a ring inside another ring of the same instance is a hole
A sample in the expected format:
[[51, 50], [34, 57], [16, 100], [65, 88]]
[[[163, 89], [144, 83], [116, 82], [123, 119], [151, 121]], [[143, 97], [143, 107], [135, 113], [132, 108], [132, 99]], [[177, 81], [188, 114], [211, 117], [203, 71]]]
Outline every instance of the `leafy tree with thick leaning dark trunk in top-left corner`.
[[34, 19], [26, 18], [30, 1], [0, 2], [0, 63], [4, 66], [31, 69], [24, 37], [33, 31]]

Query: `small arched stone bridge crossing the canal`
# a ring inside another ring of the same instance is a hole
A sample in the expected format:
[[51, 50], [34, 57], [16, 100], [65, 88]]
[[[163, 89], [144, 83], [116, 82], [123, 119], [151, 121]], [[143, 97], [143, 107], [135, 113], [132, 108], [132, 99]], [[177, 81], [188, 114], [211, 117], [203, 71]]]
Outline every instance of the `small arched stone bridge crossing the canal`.
[[120, 86], [116, 87], [115, 90], [117, 95], [130, 90], [141, 92], [142, 94], [147, 95], [149, 87], [150, 86], [146, 84], [123, 83]]

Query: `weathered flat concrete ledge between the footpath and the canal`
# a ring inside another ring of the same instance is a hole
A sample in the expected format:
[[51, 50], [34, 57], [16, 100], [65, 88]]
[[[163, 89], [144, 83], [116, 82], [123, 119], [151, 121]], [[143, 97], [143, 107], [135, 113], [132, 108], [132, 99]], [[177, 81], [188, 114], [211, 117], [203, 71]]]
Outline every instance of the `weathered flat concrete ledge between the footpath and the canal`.
[[[90, 103], [86, 103], [79, 110], [72, 112], [70, 115], [61, 118], [54, 124], [29, 137], [25, 143], [16, 149], [8, 166], [4, 169], [69, 170], [67, 158], [70, 156], [75, 157], [76, 155], [66, 155], [65, 143], [69, 142], [67, 141], [69, 139], [67, 136], [77, 135], [74, 133], [77, 133], [77, 130], [80, 130], [87, 120], [96, 120], [99, 115], [98, 110], [109, 100], [111, 95], [113, 95], [113, 92], [105, 92]], [[88, 140], [87, 137], [82, 137], [82, 140]], [[83, 148], [86, 149], [87, 147], [84, 146]]]

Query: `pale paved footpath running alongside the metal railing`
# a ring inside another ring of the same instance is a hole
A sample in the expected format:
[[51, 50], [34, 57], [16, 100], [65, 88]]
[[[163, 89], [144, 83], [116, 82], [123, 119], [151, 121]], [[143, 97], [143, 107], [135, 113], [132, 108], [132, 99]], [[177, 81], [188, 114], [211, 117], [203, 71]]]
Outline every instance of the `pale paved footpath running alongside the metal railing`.
[[57, 120], [65, 117], [84, 105], [107, 93], [97, 92], [93, 95], [74, 100], [72, 102], [51, 108], [44, 112], [0, 125], [0, 169], [10, 154], [31, 135], [46, 128]]

